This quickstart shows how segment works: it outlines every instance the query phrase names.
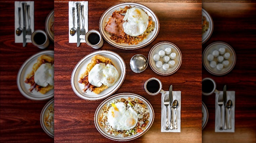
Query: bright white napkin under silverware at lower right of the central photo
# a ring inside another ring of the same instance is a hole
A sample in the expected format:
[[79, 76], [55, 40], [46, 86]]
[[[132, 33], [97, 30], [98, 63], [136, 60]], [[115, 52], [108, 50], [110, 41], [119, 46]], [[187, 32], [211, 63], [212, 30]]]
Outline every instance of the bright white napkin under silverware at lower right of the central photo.
[[[165, 91], [165, 94], [169, 94], [169, 91]], [[176, 109], [177, 114], [177, 125], [178, 129], [176, 130], [165, 130], [165, 124], [166, 124], [166, 107], [164, 106], [164, 94], [162, 94], [162, 110], [161, 110], [161, 132], [181, 132], [181, 91], [172, 91], [172, 97], [173, 101], [178, 100], [179, 107]], [[167, 107], [167, 113], [168, 113], [168, 123], [170, 125], [170, 105]], [[173, 118], [173, 127], [174, 127], [174, 120], [175, 120], [175, 111], [172, 108], [172, 118]]]

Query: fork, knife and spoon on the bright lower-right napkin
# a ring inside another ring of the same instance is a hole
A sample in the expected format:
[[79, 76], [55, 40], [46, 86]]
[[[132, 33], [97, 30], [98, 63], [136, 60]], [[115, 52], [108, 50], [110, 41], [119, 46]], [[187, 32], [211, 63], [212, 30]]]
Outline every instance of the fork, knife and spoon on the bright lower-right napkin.
[[[179, 107], [179, 102], [178, 100], [174, 100], [173, 102], [173, 95], [172, 95], [172, 85], [170, 86], [169, 89], [169, 94], [164, 95], [164, 106], [166, 107], [166, 125], [165, 125], [165, 130], [173, 130], [173, 129], [178, 129], [178, 124], [177, 124], [177, 114], [176, 114], [176, 109]], [[168, 123], [168, 110], [167, 107], [170, 105], [170, 125]], [[173, 117], [172, 117], [172, 108], [175, 111], [175, 120], [174, 120], [174, 126], [173, 126]]]

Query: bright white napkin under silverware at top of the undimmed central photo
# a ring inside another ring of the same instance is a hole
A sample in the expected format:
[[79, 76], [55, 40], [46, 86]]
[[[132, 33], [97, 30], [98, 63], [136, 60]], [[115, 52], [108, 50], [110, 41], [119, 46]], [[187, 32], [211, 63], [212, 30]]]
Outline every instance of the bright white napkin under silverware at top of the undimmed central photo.
[[[81, 5], [84, 5], [84, 17], [83, 17], [83, 25], [84, 25], [84, 29], [86, 32], [88, 32], [88, 2], [87, 1], [79, 1]], [[69, 30], [73, 27], [73, 13], [72, 13], [72, 8], [75, 8], [75, 28], [77, 29], [77, 13], [76, 13], [76, 6], [75, 6], [76, 2], [69, 2]], [[82, 15], [81, 15], [81, 11], [79, 11], [80, 13], [80, 29], [82, 29]], [[68, 33], [69, 35], [69, 43], [77, 43], [77, 34], [75, 33], [74, 36], [71, 36], [70, 33]], [[80, 36], [80, 38], [84, 39], [85, 36]], [[81, 43], [85, 43], [85, 40], [80, 40]]]

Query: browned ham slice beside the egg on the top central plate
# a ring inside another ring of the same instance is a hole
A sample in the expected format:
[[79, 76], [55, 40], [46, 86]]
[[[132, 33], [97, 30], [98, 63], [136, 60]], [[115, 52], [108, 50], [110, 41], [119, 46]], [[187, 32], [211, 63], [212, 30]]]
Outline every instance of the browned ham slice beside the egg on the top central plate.
[[105, 30], [113, 33], [119, 37], [124, 37], [124, 29], [123, 29], [123, 21], [124, 16], [117, 13], [113, 12], [112, 16], [109, 18], [108, 23], [106, 24]]

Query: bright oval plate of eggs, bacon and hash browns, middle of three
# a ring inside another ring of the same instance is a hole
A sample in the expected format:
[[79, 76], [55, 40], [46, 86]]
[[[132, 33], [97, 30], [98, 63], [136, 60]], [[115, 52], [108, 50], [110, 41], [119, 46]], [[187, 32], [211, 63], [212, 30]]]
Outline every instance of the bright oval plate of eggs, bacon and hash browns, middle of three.
[[[92, 66], [92, 59], [96, 57], [109, 59], [111, 63], [97, 61], [98, 63], [95, 62]], [[87, 72], [88, 66], [90, 71]], [[121, 56], [112, 51], [99, 50], [84, 56], [76, 64], [71, 75], [71, 85], [78, 97], [84, 100], [101, 100], [117, 91], [124, 81], [125, 74], [126, 66]]]

